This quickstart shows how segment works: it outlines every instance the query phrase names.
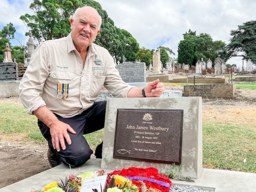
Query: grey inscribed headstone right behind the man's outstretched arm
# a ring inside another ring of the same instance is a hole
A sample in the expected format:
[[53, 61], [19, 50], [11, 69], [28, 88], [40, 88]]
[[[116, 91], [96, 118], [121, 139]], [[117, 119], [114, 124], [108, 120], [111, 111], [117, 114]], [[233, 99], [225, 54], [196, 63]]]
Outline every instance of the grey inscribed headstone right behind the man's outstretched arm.
[[146, 64], [125, 62], [116, 66], [122, 80], [126, 83], [146, 82]]

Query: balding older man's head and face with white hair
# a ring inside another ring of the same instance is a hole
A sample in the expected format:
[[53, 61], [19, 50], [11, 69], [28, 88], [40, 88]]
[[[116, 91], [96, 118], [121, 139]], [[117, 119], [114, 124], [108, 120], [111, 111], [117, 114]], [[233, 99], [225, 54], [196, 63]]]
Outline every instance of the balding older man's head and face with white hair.
[[78, 49], [87, 48], [100, 32], [100, 18], [95, 10], [82, 9], [70, 20], [72, 39]]

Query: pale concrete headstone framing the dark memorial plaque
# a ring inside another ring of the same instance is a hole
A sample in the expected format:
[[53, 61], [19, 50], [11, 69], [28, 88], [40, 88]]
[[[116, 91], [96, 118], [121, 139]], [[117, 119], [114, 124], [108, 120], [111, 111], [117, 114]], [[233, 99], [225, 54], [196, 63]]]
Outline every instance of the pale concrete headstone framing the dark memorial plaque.
[[113, 158], [118, 108], [184, 110], [182, 176], [200, 177], [202, 172], [202, 98], [115, 98], [107, 100], [101, 168], [155, 167], [160, 172], [165, 172], [172, 165]]

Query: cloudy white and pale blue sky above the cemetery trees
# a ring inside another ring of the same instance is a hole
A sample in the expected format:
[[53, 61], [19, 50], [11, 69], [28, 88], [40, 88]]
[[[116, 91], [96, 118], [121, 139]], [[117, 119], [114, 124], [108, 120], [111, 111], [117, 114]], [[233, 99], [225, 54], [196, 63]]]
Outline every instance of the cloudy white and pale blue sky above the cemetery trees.
[[[19, 19], [32, 14], [31, 0], [0, 0], [0, 29], [12, 22], [17, 38], [26, 44], [28, 31]], [[140, 47], [155, 49], [166, 46], [177, 57], [178, 43], [189, 29], [196, 34], [208, 33], [213, 40], [229, 43], [230, 30], [256, 20], [256, 0], [98, 0], [115, 25], [130, 32]], [[12, 42], [12, 44], [16, 44]], [[229, 64], [242, 66], [241, 58]]]

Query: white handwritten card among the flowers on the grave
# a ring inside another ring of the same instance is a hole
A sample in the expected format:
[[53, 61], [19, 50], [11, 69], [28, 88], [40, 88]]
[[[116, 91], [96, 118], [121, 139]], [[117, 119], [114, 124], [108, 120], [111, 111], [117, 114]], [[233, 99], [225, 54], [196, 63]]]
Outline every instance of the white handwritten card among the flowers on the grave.
[[92, 192], [93, 189], [99, 192], [101, 189], [104, 190], [107, 178], [108, 175], [102, 175], [84, 180], [80, 192]]

